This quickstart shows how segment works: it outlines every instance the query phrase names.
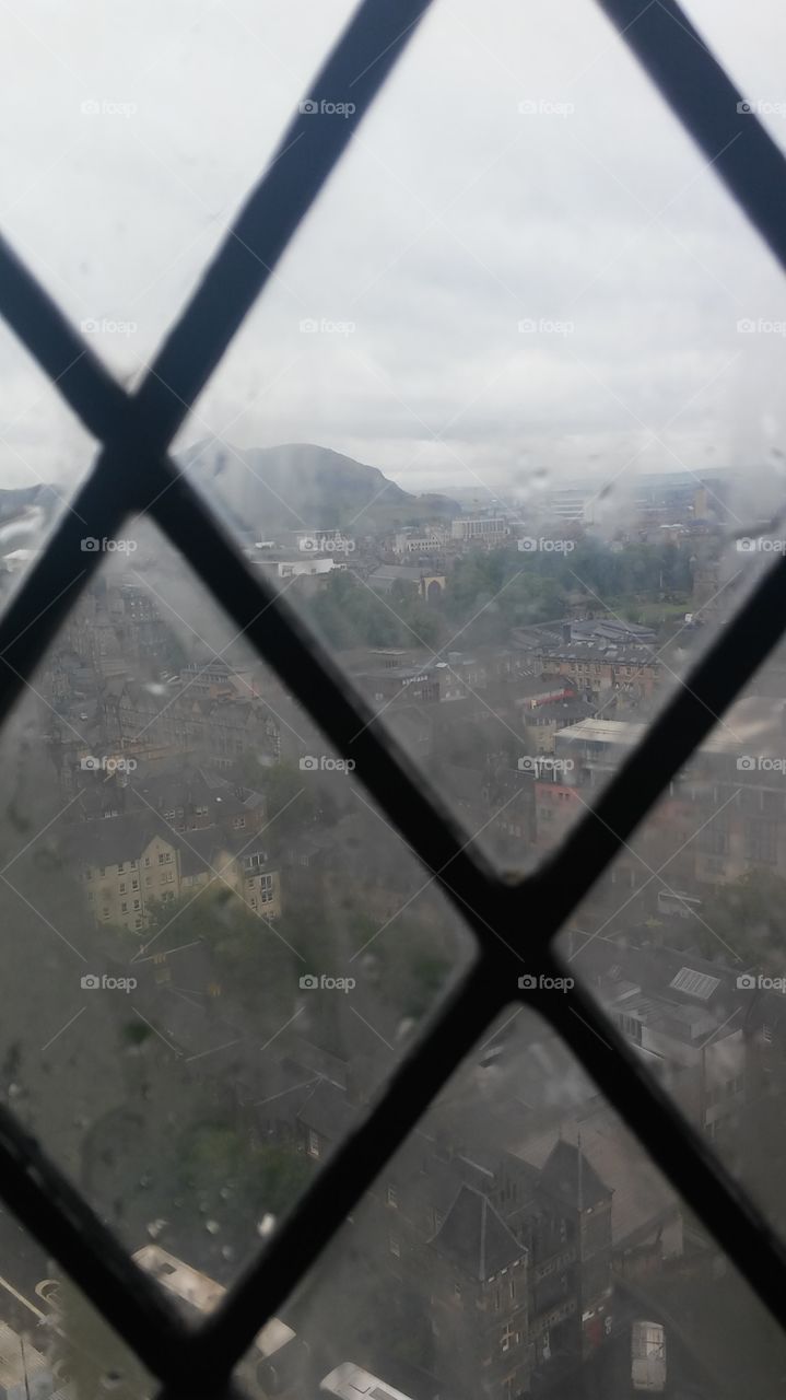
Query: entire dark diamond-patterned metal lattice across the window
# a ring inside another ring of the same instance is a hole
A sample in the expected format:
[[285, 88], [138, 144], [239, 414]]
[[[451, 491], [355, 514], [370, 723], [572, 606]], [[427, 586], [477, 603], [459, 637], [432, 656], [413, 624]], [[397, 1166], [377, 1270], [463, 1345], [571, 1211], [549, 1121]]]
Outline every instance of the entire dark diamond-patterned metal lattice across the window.
[[[643, 10], [599, 0], [688, 133], [768, 246], [786, 266], [786, 161], [673, 0]], [[480, 958], [438, 1009], [429, 1032], [396, 1070], [361, 1128], [329, 1159], [266, 1253], [218, 1313], [189, 1336], [155, 1287], [91, 1208], [0, 1114], [1, 1193], [169, 1392], [224, 1389], [242, 1351], [333, 1238], [352, 1204], [403, 1141], [503, 1004], [522, 965], [559, 969], [550, 952], [564, 918], [643, 819], [670, 777], [723, 714], [786, 626], [786, 563], [776, 566], [694, 669], [641, 746], [564, 846], [519, 886], [466, 848], [445, 801], [372, 714], [284, 599], [252, 578], [239, 552], [165, 458], [171, 441], [263, 288], [389, 70], [425, 3], [364, 0], [317, 76], [316, 98], [355, 102], [343, 123], [301, 113], [252, 193], [201, 287], [166, 337], [140, 391], [127, 396], [46, 293], [0, 245], [0, 311], [57, 389], [103, 444], [98, 463], [49, 547], [0, 619], [6, 685], [0, 720], [17, 700], [78, 591], [98, 564], [80, 554], [85, 533], [110, 535], [130, 511], [150, 510], [260, 655], [291, 686], [397, 825], [480, 945]], [[76, 512], [76, 514], [74, 514]], [[260, 608], [264, 622], [255, 622]], [[362, 732], [358, 732], [362, 731]], [[786, 1324], [786, 1254], [706, 1144], [635, 1060], [583, 988], [538, 1005], [656, 1163], [715, 1233], [773, 1316]]]

